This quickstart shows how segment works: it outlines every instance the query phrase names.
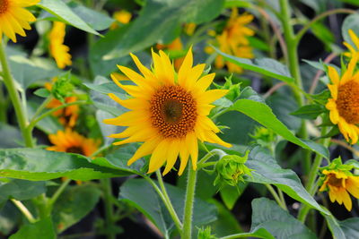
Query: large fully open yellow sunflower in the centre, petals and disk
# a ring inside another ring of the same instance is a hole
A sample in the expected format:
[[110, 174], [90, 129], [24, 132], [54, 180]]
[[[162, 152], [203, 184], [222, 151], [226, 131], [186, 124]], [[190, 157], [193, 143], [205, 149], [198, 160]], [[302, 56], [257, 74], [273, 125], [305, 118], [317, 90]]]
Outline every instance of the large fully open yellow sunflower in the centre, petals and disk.
[[118, 65], [119, 70], [136, 85], [123, 85], [112, 75], [112, 80], [118, 87], [126, 90], [132, 98], [123, 100], [115, 94], [109, 94], [109, 97], [131, 111], [106, 119], [104, 123], [128, 127], [124, 132], [109, 136], [127, 138], [115, 142], [115, 145], [144, 142], [128, 160], [128, 165], [138, 158], [152, 154], [148, 173], [154, 172], [166, 162], [163, 172], [165, 175], [180, 156], [181, 175], [189, 156], [193, 169], [197, 169], [198, 139], [232, 147], [215, 134], [220, 131], [207, 117], [214, 107], [210, 103], [223, 97], [228, 90], [206, 90], [214, 80], [215, 73], [201, 77], [205, 64], [192, 67], [191, 49], [180, 66], [179, 73], [175, 73], [168, 55], [161, 50], [159, 55], [154, 52], [152, 55], [153, 71], [150, 71], [136, 55], [131, 54], [143, 75]]

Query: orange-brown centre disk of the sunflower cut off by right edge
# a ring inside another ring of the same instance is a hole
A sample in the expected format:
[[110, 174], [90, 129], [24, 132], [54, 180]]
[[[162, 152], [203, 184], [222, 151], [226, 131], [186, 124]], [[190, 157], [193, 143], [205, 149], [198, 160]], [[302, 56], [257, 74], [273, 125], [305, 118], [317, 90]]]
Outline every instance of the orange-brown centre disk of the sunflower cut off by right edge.
[[347, 123], [359, 124], [359, 83], [348, 81], [339, 87], [337, 109]]

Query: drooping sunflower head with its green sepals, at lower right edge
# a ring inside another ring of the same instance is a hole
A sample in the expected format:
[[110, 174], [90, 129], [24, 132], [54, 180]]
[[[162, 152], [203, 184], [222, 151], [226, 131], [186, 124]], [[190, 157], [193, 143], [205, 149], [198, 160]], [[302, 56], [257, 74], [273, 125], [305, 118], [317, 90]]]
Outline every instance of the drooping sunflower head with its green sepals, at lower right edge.
[[352, 209], [350, 194], [359, 199], [359, 176], [350, 170], [353, 166], [343, 165], [340, 158], [336, 158], [320, 171], [320, 192], [327, 191], [331, 202], [344, 203], [347, 210]]

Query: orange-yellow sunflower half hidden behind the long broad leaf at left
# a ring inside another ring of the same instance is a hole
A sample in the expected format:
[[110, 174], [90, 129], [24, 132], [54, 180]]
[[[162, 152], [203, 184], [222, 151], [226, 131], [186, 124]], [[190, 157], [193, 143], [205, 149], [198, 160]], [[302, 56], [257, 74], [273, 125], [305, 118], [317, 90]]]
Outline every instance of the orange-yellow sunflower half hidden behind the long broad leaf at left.
[[48, 139], [54, 144], [54, 146], [48, 147], [48, 150], [77, 153], [86, 157], [91, 156], [100, 145], [100, 141], [87, 139], [78, 132], [72, 131], [70, 128], [66, 128], [65, 132], [58, 131], [56, 134], [50, 134], [48, 135]]

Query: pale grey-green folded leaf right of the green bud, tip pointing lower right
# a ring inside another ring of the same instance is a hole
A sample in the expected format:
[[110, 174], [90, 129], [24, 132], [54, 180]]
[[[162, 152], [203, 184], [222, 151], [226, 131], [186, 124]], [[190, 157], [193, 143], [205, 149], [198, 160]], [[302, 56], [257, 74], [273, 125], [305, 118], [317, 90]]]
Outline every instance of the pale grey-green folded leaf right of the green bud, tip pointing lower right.
[[281, 168], [276, 163], [276, 159], [270, 156], [267, 149], [259, 146], [251, 149], [246, 166], [254, 170], [251, 172], [252, 177], [246, 177], [247, 181], [258, 184], [274, 184], [294, 200], [301, 201], [323, 213], [328, 213], [304, 189], [298, 175], [291, 169]]

